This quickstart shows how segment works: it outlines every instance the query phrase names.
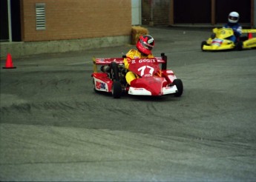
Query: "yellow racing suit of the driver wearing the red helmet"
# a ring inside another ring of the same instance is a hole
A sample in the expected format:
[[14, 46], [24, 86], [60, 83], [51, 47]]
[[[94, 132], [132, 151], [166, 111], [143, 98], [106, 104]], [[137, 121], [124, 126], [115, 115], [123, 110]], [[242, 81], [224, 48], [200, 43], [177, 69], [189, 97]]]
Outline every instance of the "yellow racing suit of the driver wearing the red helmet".
[[[140, 53], [140, 51], [138, 50], [130, 50], [126, 54], [126, 58], [124, 58], [125, 69], [129, 70], [130, 62], [134, 58], [154, 58], [154, 55], [149, 54], [145, 56], [145, 55], [142, 55], [142, 53]], [[128, 71], [128, 73], [126, 73], [125, 75], [125, 79], [127, 83], [130, 85], [131, 85], [131, 81], [133, 81], [135, 78], [137, 78], [137, 76], [131, 71]]]

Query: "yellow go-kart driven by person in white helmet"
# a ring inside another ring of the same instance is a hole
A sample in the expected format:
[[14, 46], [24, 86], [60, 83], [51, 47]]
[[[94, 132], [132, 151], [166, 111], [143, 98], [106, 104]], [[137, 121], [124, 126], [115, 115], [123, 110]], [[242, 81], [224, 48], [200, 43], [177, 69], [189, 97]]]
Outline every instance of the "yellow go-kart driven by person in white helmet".
[[256, 38], [252, 38], [252, 33], [256, 33], [256, 29], [245, 29], [242, 33], [247, 33], [248, 36], [240, 36], [237, 42], [229, 40], [230, 36], [234, 35], [231, 28], [214, 28], [211, 37], [207, 41], [202, 41], [201, 50], [245, 50], [256, 48]]

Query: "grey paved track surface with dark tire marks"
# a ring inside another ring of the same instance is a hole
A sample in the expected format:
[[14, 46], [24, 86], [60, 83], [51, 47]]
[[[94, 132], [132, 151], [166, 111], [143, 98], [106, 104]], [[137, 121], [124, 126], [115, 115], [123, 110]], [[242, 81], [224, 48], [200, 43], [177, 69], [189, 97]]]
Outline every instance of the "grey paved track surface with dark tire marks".
[[0, 181], [256, 181], [256, 50], [206, 53], [211, 30], [149, 28], [182, 97], [93, 92], [92, 57], [1, 61]]

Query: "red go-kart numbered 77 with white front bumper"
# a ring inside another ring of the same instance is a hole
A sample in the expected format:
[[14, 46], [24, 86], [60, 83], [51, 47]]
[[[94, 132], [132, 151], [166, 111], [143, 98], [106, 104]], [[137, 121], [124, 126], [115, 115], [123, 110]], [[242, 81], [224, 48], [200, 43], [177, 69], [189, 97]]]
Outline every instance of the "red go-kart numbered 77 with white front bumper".
[[[95, 92], [110, 92], [114, 98], [120, 98], [123, 93], [128, 95], [174, 95], [183, 94], [183, 82], [174, 75], [172, 70], [166, 70], [167, 56], [136, 58], [131, 60], [129, 71], [137, 78], [127, 83], [122, 58], [93, 58], [93, 90]], [[161, 69], [160, 69], [161, 64]], [[100, 66], [101, 72], [98, 73]]]

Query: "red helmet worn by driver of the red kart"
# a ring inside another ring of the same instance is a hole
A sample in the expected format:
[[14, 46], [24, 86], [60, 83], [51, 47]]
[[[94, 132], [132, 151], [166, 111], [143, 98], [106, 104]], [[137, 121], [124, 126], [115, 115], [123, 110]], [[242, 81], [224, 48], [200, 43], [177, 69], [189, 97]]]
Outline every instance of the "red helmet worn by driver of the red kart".
[[136, 47], [141, 53], [149, 55], [154, 47], [154, 38], [149, 35], [140, 36]]

